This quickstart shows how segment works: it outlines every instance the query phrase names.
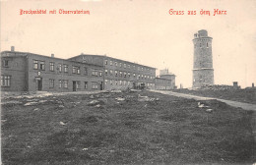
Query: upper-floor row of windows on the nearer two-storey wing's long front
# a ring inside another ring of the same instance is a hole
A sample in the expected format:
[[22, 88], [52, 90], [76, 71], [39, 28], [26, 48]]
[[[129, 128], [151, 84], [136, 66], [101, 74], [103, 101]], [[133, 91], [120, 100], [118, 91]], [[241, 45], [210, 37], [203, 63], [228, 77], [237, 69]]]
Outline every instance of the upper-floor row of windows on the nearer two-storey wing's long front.
[[[55, 63], [54, 62], [50, 62], [50, 71], [55, 71], [55, 67], [54, 67]], [[34, 70], [45, 70], [45, 62], [44, 61], [38, 61], [38, 60], [33, 60], [33, 69]], [[62, 72], [62, 64], [58, 64], [57, 65], [57, 71], [59, 71], [60, 73]], [[63, 69], [64, 69], [64, 73], [68, 73], [68, 65], [67, 64], [63, 64]], [[72, 74], [81, 74], [81, 69], [79, 66], [72, 66]], [[84, 75], [88, 75], [88, 68], [85, 67], [84, 68]], [[98, 71], [96, 69], [94, 69], [92, 71], [92, 76], [99, 76], [102, 77], [102, 71]]]

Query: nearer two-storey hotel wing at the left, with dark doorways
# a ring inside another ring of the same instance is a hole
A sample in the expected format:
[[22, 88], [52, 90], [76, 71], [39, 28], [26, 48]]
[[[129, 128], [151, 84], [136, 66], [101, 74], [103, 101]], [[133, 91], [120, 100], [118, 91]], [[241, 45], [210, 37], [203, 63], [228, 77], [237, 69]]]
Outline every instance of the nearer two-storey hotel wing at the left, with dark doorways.
[[102, 67], [25, 52], [1, 53], [2, 91], [103, 89]]

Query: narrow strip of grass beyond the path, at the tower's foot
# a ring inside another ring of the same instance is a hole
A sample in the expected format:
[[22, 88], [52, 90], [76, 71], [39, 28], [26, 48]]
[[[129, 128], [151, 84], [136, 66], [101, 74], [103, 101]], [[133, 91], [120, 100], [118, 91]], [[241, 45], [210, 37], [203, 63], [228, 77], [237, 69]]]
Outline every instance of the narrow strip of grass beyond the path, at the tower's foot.
[[233, 101], [256, 104], [256, 88], [251, 89], [225, 89], [225, 90], [188, 90], [176, 89], [176, 92], [194, 94], [199, 96], [216, 97]]

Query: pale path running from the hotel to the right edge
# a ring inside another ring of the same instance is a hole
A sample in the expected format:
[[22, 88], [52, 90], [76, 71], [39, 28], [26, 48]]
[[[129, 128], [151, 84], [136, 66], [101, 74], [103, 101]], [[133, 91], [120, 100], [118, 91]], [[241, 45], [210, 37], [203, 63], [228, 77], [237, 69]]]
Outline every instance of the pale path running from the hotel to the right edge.
[[162, 94], [168, 94], [168, 95], [173, 95], [177, 97], [183, 97], [183, 98], [189, 98], [189, 99], [195, 99], [195, 100], [210, 100], [210, 99], [216, 99], [219, 101], [222, 101], [230, 106], [233, 107], [240, 107], [244, 110], [253, 110], [256, 111], [256, 104], [249, 104], [249, 103], [243, 103], [243, 102], [238, 102], [238, 101], [230, 101], [230, 100], [225, 100], [225, 99], [220, 99], [220, 98], [214, 98], [214, 97], [203, 97], [203, 96], [196, 96], [196, 95], [190, 95], [190, 94], [184, 94], [184, 93], [178, 93], [178, 92], [172, 92], [172, 91], [163, 91], [163, 90], [151, 90], [154, 92], [159, 92]]

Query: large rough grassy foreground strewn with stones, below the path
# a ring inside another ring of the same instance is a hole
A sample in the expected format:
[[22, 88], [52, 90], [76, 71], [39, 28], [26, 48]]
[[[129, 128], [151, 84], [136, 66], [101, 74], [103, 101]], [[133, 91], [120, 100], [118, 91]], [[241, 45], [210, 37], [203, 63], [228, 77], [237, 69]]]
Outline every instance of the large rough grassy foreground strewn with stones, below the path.
[[[151, 101], [140, 101], [140, 95]], [[123, 97], [125, 100], [116, 100]], [[97, 100], [97, 103], [90, 102]], [[33, 105], [25, 106], [28, 102]], [[122, 92], [4, 99], [3, 164], [251, 164], [251, 112]], [[9, 103], [7, 103], [9, 102]], [[202, 103], [202, 102], [201, 102]], [[253, 160], [254, 159], [254, 160]]]

